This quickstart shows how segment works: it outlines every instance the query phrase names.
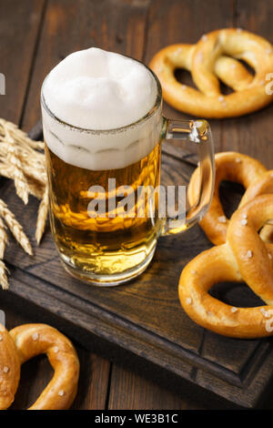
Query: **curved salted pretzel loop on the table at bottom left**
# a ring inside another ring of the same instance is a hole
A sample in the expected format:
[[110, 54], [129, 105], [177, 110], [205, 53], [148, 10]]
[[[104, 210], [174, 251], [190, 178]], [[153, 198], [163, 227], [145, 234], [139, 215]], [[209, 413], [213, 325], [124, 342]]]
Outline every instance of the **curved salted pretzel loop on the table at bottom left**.
[[71, 341], [45, 324], [21, 325], [9, 331], [9, 336], [15, 343], [10, 355], [18, 358], [19, 367], [36, 355], [46, 353], [55, 371], [52, 380], [28, 410], [68, 409], [76, 396], [79, 376], [79, 362]]

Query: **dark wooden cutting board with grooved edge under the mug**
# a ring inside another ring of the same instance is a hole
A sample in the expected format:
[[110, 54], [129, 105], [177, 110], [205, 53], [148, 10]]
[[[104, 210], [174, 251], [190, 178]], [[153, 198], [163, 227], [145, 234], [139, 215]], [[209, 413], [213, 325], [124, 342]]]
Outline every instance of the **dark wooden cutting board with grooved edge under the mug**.
[[[42, 138], [41, 126], [32, 130]], [[164, 143], [162, 182], [182, 184], [195, 168], [183, 149]], [[115, 362], [126, 364], [177, 392], [199, 394], [227, 407], [263, 405], [273, 374], [273, 342], [235, 340], [206, 331], [191, 321], [178, 301], [177, 285], [188, 260], [211, 246], [196, 226], [183, 235], [160, 238], [154, 260], [129, 284], [97, 288], [70, 277], [58, 260], [47, 225], [35, 245], [38, 201], [28, 205], [15, 195], [11, 180], [0, 181], [1, 198], [13, 210], [31, 239], [35, 255], [27, 256], [10, 238], [5, 261], [10, 289], [1, 299], [33, 321], [47, 322], [74, 341]], [[227, 211], [241, 196], [238, 186], [221, 190]], [[234, 305], [260, 304], [245, 284], [217, 284], [212, 293]]]

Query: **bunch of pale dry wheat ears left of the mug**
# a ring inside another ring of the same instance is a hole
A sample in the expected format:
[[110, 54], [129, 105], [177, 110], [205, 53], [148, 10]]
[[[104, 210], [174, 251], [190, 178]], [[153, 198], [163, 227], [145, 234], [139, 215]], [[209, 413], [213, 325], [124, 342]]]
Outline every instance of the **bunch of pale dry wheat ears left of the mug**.
[[[15, 191], [27, 204], [29, 195], [39, 199], [35, 239], [39, 244], [48, 213], [48, 189], [45, 173], [45, 143], [29, 138], [12, 122], [0, 118], [0, 176], [15, 182]], [[4, 262], [5, 247], [8, 243], [6, 227], [25, 252], [33, 255], [29, 239], [14, 213], [0, 199], [0, 285], [8, 288], [7, 269]]]

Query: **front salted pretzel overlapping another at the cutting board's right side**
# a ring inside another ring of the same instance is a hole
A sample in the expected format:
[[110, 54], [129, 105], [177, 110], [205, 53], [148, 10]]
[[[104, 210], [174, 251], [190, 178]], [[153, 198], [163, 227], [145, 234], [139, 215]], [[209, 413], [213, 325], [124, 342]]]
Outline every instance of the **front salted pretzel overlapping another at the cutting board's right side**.
[[[187, 315], [218, 334], [258, 338], [273, 334], [273, 244], [258, 229], [273, 217], [273, 195], [251, 199], [232, 216], [225, 244], [203, 251], [181, 273], [178, 294]], [[245, 280], [267, 304], [238, 308], [208, 294], [217, 282]]]

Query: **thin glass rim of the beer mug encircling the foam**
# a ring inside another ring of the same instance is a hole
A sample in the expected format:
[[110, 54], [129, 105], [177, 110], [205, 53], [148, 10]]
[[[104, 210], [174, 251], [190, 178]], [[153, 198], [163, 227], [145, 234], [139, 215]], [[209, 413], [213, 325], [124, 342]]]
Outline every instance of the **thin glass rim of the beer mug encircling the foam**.
[[[126, 56], [123, 54], [118, 54], [118, 55]], [[142, 66], [145, 66], [147, 68], [147, 70], [155, 78], [156, 83], [157, 83], [156, 102], [155, 102], [154, 106], [150, 108], [150, 110], [147, 112], [147, 114], [145, 116], [140, 117], [135, 122], [132, 122], [128, 125], [125, 125], [124, 127], [114, 127], [114, 128], [110, 128], [110, 129], [92, 129], [92, 128], [85, 128], [85, 127], [76, 127], [76, 125], [71, 125], [68, 122], [60, 119], [59, 117], [56, 117], [56, 115], [50, 110], [49, 107], [47, 107], [47, 105], [45, 103], [43, 88], [45, 86], [45, 81], [46, 81], [47, 77], [49, 76], [50, 72], [45, 76], [45, 79], [44, 79], [44, 82], [43, 82], [42, 88], [41, 88], [41, 104], [45, 108], [46, 113], [48, 113], [48, 115], [50, 117], [54, 118], [60, 125], [62, 125], [64, 127], [69, 127], [70, 129], [75, 130], [75, 131], [84, 132], [84, 133], [88, 133], [88, 134], [112, 134], [113, 132], [123, 132], [123, 131], [126, 131], [126, 129], [129, 129], [130, 127], [136, 127], [136, 126], [140, 125], [141, 123], [146, 122], [147, 119], [149, 119], [150, 117], [153, 117], [156, 114], [158, 108], [161, 106], [162, 87], [160, 85], [160, 82], [159, 82], [157, 75], [146, 64], [142, 63], [141, 61], [138, 61], [138, 59], [135, 59], [131, 56], [126, 56], [126, 57], [132, 59], [133, 61], [138, 62]]]

